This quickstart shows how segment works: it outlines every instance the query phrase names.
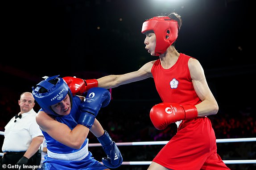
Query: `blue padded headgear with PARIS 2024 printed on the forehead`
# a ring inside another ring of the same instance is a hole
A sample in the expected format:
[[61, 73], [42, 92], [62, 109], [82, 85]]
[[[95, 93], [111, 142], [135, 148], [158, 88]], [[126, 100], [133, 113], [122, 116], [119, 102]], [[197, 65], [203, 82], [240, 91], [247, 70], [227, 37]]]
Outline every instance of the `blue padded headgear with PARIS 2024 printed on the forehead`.
[[[72, 107], [72, 92], [66, 82], [62, 78], [58, 78], [58, 76], [59, 75], [52, 77], [45, 76], [43, 77], [45, 80], [38, 83], [36, 88], [32, 87], [32, 94], [35, 100], [48, 115], [60, 116], [55, 113], [50, 106], [61, 102], [67, 94], [70, 97]], [[57, 83], [52, 84], [49, 82], [50, 80], [56, 80]], [[45, 88], [43, 89], [45, 92], [41, 92], [41, 88]]]

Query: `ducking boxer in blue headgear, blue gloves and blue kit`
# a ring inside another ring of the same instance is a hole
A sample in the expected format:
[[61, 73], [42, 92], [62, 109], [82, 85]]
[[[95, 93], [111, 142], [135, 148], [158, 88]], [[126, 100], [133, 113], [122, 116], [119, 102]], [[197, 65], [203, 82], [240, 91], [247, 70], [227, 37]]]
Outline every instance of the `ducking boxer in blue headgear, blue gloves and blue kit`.
[[[41, 109], [36, 121], [45, 136], [47, 155], [45, 170], [109, 170], [119, 167], [123, 158], [116, 143], [95, 119], [99, 109], [110, 102], [107, 89], [94, 87], [86, 97], [72, 95], [66, 82], [58, 77], [45, 77], [33, 89]], [[88, 151], [89, 130], [98, 138], [107, 157], [102, 165]]]

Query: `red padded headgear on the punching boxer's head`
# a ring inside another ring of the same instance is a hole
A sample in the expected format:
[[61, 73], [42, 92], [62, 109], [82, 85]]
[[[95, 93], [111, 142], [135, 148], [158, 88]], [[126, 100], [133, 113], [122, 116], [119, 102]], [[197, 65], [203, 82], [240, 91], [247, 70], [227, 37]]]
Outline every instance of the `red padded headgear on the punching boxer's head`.
[[178, 38], [178, 22], [169, 16], [156, 16], [142, 24], [141, 33], [152, 30], [156, 34], [156, 56], [163, 54]]

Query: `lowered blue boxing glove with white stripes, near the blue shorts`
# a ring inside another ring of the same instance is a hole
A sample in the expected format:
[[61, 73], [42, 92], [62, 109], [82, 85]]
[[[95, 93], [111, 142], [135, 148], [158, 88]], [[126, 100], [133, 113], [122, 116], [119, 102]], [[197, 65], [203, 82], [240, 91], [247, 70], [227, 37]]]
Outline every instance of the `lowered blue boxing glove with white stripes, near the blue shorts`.
[[109, 168], [119, 167], [123, 162], [122, 154], [106, 130], [104, 130], [104, 134], [98, 140], [107, 154], [107, 158], [102, 158], [103, 164]]

